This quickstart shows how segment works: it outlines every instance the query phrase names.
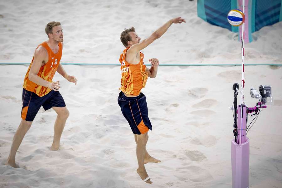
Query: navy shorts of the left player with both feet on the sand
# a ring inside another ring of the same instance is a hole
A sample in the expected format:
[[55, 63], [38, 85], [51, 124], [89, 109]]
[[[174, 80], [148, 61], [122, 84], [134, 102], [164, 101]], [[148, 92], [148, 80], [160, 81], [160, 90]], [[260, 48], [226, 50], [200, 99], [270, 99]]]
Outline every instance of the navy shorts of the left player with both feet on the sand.
[[43, 97], [39, 97], [34, 92], [23, 88], [22, 119], [33, 121], [41, 106], [44, 110], [51, 107], [65, 107], [65, 101], [59, 91], [52, 90]]

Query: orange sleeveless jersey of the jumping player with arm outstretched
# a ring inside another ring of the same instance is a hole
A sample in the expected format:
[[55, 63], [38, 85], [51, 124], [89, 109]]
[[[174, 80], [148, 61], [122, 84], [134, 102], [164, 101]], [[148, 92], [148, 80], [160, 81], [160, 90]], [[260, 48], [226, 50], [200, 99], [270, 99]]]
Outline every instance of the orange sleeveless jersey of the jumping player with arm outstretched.
[[126, 51], [129, 49], [127, 47], [123, 50], [120, 55], [119, 61], [121, 63], [121, 87], [119, 88], [123, 93], [128, 95], [139, 95], [141, 89], [146, 86], [148, 79], [148, 73], [146, 71], [146, 66], [144, 65], [143, 59], [144, 54], [140, 52], [140, 62], [138, 64], [131, 64], [125, 60]]

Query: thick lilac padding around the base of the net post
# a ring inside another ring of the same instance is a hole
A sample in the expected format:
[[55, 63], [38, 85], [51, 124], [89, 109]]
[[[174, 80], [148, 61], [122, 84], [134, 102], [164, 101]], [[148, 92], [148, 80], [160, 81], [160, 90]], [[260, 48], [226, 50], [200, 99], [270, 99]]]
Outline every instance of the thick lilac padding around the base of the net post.
[[249, 187], [250, 141], [243, 144], [231, 142], [232, 188]]

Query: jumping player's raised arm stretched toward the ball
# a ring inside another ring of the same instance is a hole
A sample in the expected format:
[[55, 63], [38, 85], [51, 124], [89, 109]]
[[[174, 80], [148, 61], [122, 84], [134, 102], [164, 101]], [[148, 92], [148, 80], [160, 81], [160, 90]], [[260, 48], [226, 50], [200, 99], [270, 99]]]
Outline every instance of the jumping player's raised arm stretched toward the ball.
[[130, 50], [133, 52], [138, 53], [140, 50], [143, 50], [146, 48], [149, 44], [154, 42], [154, 40], [159, 39], [166, 31], [169, 29], [171, 24], [181, 24], [182, 22], [186, 22], [185, 19], [178, 17], [173, 18], [166, 22], [163, 26], [161, 26], [159, 29], [157, 29], [154, 33], [151, 34], [147, 39], [144, 39], [140, 43], [134, 44], [130, 47]]

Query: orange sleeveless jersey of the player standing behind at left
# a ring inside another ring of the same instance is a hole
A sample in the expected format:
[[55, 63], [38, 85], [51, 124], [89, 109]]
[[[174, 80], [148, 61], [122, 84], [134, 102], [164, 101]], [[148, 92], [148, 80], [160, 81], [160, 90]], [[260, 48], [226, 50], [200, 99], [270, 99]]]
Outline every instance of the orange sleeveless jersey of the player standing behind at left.
[[[39, 44], [38, 47], [39, 46], [43, 46], [47, 50], [48, 62], [45, 65], [43, 65], [42, 67], [40, 67], [40, 70], [37, 76], [39, 76], [43, 80], [52, 82], [52, 79], [55, 75], [55, 72], [57, 71], [57, 68], [59, 66], [59, 63], [62, 57], [62, 44], [61, 43], [58, 44], [59, 50], [56, 54], [54, 54], [54, 52], [51, 50], [51, 48], [48, 46], [46, 42]], [[23, 88], [26, 89], [27, 91], [34, 92], [39, 97], [43, 97], [44, 95], [48, 94], [51, 91], [51, 89], [48, 87], [40, 86], [29, 80], [29, 71], [33, 63], [33, 60], [34, 60], [34, 57], [32, 58], [32, 61], [29, 65], [29, 69], [24, 77]]]

